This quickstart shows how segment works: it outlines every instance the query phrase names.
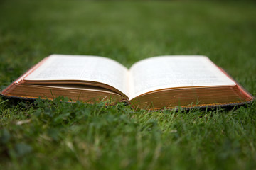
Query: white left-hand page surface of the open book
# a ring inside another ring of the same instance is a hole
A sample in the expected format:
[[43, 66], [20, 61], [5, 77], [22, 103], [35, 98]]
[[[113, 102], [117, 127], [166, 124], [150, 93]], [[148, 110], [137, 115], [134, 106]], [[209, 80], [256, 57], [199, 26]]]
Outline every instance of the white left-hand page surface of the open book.
[[128, 96], [128, 69], [106, 57], [50, 55], [24, 79], [28, 81], [96, 81], [113, 86]]

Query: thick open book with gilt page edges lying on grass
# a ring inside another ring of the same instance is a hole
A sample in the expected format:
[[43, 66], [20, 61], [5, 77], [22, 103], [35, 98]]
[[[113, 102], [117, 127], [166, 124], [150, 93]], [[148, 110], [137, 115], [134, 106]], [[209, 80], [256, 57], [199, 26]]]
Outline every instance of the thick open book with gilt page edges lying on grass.
[[205, 56], [159, 56], [127, 69], [106, 57], [50, 55], [1, 91], [3, 96], [112, 103], [135, 108], [209, 107], [254, 99]]

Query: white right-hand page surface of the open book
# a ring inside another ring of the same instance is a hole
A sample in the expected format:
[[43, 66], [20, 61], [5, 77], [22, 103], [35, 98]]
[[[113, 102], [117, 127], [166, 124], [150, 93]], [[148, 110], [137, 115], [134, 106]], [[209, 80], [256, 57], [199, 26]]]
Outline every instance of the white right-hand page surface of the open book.
[[159, 89], [235, 85], [205, 56], [151, 57], [132, 65], [129, 72], [130, 100]]

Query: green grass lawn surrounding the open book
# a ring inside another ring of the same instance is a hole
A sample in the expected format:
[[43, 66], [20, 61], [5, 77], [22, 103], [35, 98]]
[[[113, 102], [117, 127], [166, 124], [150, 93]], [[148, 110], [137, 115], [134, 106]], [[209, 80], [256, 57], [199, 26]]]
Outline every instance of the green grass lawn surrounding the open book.
[[[0, 87], [50, 54], [207, 55], [256, 96], [250, 1], [0, 1]], [[256, 103], [134, 111], [0, 97], [0, 169], [256, 169]]]

